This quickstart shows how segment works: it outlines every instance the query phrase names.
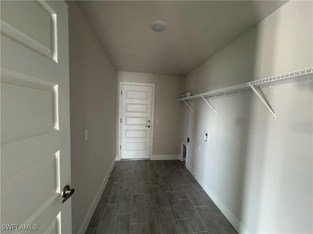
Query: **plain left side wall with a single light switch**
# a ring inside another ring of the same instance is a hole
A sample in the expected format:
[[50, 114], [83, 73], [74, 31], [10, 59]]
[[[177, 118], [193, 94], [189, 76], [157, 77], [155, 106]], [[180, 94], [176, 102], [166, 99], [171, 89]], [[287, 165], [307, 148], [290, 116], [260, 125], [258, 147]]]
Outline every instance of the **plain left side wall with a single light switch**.
[[98, 191], [115, 159], [116, 71], [77, 3], [67, 1], [67, 5], [71, 187], [75, 189], [72, 231], [76, 234], [80, 229], [85, 232]]

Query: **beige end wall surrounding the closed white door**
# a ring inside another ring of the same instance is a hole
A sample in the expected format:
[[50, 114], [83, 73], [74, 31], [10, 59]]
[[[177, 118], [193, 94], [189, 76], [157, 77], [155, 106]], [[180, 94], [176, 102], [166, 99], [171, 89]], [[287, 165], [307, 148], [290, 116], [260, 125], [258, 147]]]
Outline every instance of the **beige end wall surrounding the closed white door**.
[[[117, 82], [120, 81], [155, 84], [154, 157], [152, 159], [163, 156], [165, 158], [171, 156], [173, 159], [173, 156], [180, 155], [182, 104], [172, 100], [179, 98], [184, 93], [184, 78], [170, 75], [117, 72]], [[159, 119], [158, 124], [156, 124], [156, 119]], [[118, 152], [118, 147], [116, 152]]]

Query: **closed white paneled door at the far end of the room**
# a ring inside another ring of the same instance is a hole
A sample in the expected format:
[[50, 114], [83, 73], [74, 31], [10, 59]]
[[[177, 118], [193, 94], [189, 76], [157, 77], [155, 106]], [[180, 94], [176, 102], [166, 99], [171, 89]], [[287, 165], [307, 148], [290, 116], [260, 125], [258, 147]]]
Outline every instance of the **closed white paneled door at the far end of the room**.
[[151, 149], [153, 86], [122, 84], [121, 159], [148, 159]]

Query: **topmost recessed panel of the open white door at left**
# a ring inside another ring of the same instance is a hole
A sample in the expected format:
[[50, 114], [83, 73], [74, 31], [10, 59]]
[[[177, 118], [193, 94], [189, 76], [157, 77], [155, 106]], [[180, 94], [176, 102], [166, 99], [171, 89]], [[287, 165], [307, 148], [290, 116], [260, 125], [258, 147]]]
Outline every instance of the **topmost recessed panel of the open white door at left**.
[[2, 9], [14, 9], [15, 13], [1, 10], [1, 34], [57, 62], [57, 14], [50, 5], [45, 1], [1, 1]]

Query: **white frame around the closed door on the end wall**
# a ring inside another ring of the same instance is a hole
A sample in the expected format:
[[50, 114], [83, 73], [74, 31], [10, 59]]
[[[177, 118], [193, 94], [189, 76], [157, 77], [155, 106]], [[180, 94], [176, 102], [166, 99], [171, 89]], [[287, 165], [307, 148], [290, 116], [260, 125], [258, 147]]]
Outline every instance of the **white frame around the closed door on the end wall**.
[[[116, 161], [121, 160], [121, 95], [120, 93], [122, 92], [122, 85], [138, 85], [138, 86], [152, 86], [152, 107], [151, 107], [151, 142], [150, 142], [150, 155], [149, 159], [151, 159], [152, 156], [152, 149], [153, 149], [153, 130], [154, 130], [154, 115], [155, 115], [155, 86], [156, 84], [153, 83], [137, 83], [137, 82], [125, 82], [125, 81], [119, 81], [118, 82], [118, 102], [117, 102], [117, 110], [118, 110], [118, 115], [117, 115], [117, 122], [118, 122], [118, 128], [117, 128], [117, 155], [116, 155]], [[138, 160], [138, 159], [123, 159], [123, 160]]]

